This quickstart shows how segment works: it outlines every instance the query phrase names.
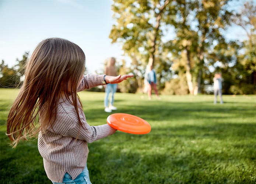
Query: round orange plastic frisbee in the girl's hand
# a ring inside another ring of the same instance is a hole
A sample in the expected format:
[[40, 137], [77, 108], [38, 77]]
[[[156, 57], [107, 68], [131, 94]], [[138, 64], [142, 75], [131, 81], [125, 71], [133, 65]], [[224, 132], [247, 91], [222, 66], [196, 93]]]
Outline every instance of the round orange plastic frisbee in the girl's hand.
[[151, 126], [147, 121], [131, 114], [111, 114], [107, 118], [107, 123], [116, 130], [130, 134], [147, 134], [151, 131]]

